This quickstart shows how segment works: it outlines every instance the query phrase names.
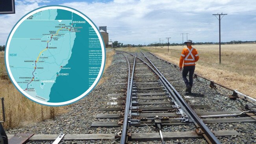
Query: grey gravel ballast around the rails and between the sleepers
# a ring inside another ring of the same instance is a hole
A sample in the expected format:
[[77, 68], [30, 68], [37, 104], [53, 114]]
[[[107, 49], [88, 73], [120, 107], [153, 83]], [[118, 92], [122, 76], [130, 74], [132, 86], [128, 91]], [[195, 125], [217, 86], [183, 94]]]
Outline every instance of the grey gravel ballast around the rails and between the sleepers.
[[[133, 53], [134, 54], [134, 53]], [[232, 95], [232, 91], [226, 90], [217, 86], [216, 89], [209, 87], [210, 82], [202, 78], [194, 79], [194, 85], [192, 89], [192, 95], [185, 92], [185, 84], [182, 79], [182, 74], [173, 65], [165, 63], [160, 59], [156, 59], [153, 55], [146, 53], [147, 57], [154, 61], [154, 65], [158, 67], [160, 72], [170, 80], [170, 83], [175, 89], [192, 105], [209, 105], [210, 108], [194, 109], [197, 112], [208, 111], [237, 111], [238, 107], [244, 107], [245, 104], [251, 105], [248, 102], [244, 102], [241, 99], [230, 100], [227, 96]], [[128, 57], [128, 54], [125, 54]], [[142, 57], [142, 54], [138, 54]], [[132, 58], [128, 57], [130, 63]], [[142, 57], [144, 61], [145, 58]], [[141, 63], [139, 59], [137, 63]], [[147, 62], [147, 61], [146, 61]], [[143, 64], [136, 65], [136, 68], [147, 67]], [[139, 69], [137, 69], [139, 71]], [[136, 70], [135, 70], [136, 72]], [[150, 71], [151, 72], [151, 71]], [[139, 71], [135, 75], [135, 80], [139, 81], [140, 78], [146, 77], [148, 81], [158, 80], [155, 75], [144, 75], [147, 70]], [[152, 73], [152, 72], [151, 72]], [[122, 96], [108, 96], [108, 94], [121, 94], [126, 96], [128, 77], [128, 66], [126, 59], [122, 54], [113, 55], [113, 61], [111, 65], [106, 69], [103, 74], [105, 79], [104, 83], [97, 85], [95, 89], [85, 98], [79, 102], [73, 103], [67, 106], [67, 113], [57, 116], [54, 120], [45, 120], [43, 122], [35, 122], [29, 126], [18, 127], [15, 129], [6, 129], [7, 134], [15, 133], [35, 133], [35, 134], [109, 134], [117, 133], [121, 131], [122, 127], [90, 127], [92, 122], [114, 122], [116, 119], [98, 119], [95, 118], [96, 114], [118, 114], [120, 111], [100, 111], [102, 107], [120, 107], [120, 105], [107, 105], [107, 102], [121, 102], [120, 100], [109, 100], [111, 97], [122, 98]], [[142, 102], [143, 100], [141, 100]], [[151, 105], [162, 106], [162, 105]], [[166, 105], [165, 105], [166, 106]], [[170, 105], [168, 105], [170, 106]], [[140, 106], [143, 107], [143, 106]], [[145, 105], [146, 107], [146, 105]], [[208, 124], [211, 130], [236, 130], [241, 135], [231, 137], [218, 137], [222, 143], [232, 144], [252, 144], [256, 143], [256, 126], [251, 123], [224, 123], [224, 124]], [[154, 126], [144, 127], [130, 127], [132, 133], [157, 133], [158, 131]], [[171, 126], [163, 127], [164, 132], [176, 132], [176, 131], [194, 131], [195, 126], [193, 124], [183, 126]], [[131, 144], [160, 144], [161, 141], [150, 142], [130, 142]], [[51, 144], [52, 142], [28, 142], [28, 144]], [[62, 141], [61, 144], [118, 144], [119, 141], [115, 140], [86, 140], [86, 141]], [[207, 143], [204, 139], [177, 139], [166, 141], [170, 144], [204, 144]]]

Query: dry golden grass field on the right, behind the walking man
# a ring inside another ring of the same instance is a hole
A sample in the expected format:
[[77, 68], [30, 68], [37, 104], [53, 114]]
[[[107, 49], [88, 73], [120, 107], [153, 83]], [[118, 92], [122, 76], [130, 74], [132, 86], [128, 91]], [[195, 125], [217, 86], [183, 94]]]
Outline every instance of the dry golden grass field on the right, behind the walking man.
[[[185, 46], [184, 46], [185, 47]], [[214, 80], [231, 89], [256, 98], [256, 44], [221, 45], [221, 64], [219, 64], [219, 45], [194, 45], [200, 56], [195, 73]], [[161, 48], [144, 47], [163, 59], [178, 65], [182, 46]]]

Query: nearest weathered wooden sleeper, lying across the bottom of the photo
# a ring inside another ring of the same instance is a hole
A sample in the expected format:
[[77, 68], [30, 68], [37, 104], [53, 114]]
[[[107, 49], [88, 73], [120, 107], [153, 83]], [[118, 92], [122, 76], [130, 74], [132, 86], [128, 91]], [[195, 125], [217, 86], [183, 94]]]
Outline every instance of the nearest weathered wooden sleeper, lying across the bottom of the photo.
[[[215, 136], [217, 137], [225, 137], [232, 135], [241, 135], [236, 130], [223, 130], [223, 131], [213, 131]], [[117, 134], [66, 134], [62, 140], [70, 141], [70, 140], [117, 140], [120, 138], [122, 132], [120, 131]], [[54, 141], [59, 135], [48, 134], [48, 135], [39, 135], [35, 134], [31, 138], [28, 139], [29, 142], [43, 142], [43, 141]], [[7, 135], [8, 138], [18, 137], [13, 134]], [[165, 140], [176, 140], [179, 138], [189, 139], [189, 138], [203, 138], [202, 136], [198, 136], [195, 131], [182, 131], [182, 132], [165, 132], [163, 133], [163, 138]], [[19, 138], [21, 139], [21, 138]], [[132, 133], [128, 129], [128, 139], [130, 141], [153, 141], [160, 140], [159, 133]], [[15, 143], [17, 144], [17, 143]]]

